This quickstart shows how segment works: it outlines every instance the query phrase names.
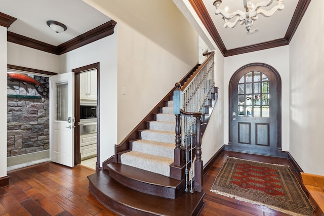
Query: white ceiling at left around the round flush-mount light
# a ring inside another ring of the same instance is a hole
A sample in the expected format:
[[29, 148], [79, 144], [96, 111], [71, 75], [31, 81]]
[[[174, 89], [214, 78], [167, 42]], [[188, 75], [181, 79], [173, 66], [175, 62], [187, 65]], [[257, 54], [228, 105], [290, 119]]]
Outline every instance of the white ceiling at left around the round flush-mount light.
[[[0, 12], [17, 18], [8, 31], [58, 46], [111, 19], [82, 0], [0, 0]], [[56, 33], [46, 22], [67, 26]]]

